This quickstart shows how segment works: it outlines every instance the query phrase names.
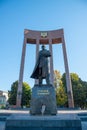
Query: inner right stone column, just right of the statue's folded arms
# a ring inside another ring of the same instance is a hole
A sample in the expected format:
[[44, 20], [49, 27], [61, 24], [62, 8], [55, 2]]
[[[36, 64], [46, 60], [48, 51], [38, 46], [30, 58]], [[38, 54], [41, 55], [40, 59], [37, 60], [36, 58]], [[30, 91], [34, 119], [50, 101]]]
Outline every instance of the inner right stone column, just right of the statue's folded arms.
[[49, 39], [49, 50], [51, 52], [51, 57], [50, 57], [50, 82], [51, 82], [52, 85], [54, 85], [52, 39]]

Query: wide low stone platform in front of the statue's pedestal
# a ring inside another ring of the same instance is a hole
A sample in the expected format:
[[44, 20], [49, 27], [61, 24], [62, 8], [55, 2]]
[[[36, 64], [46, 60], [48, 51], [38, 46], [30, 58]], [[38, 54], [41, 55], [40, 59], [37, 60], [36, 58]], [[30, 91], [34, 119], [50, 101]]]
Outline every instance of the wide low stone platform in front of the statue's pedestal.
[[5, 130], [82, 130], [82, 126], [76, 114], [56, 116], [12, 114], [6, 120]]

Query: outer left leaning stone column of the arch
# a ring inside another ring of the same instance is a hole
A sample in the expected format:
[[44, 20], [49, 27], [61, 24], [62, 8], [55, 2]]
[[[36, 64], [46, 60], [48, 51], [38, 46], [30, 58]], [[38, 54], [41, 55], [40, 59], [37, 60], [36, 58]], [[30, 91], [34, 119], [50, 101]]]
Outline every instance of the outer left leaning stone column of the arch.
[[18, 108], [21, 107], [25, 53], [26, 53], [26, 38], [24, 38], [24, 42], [23, 42], [20, 73], [19, 73], [19, 81], [18, 81], [18, 90], [17, 90], [17, 99], [16, 99], [16, 107], [18, 107]]

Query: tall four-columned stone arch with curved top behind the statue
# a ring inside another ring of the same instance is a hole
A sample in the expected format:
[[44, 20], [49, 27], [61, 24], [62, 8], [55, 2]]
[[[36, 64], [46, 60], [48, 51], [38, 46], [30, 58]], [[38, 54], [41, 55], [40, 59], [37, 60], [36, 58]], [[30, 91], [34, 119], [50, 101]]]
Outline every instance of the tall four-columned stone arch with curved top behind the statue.
[[36, 58], [39, 52], [40, 44], [48, 44], [49, 50], [51, 52], [50, 58], [50, 81], [53, 84], [54, 82], [54, 74], [53, 74], [53, 51], [52, 44], [62, 44], [63, 57], [64, 57], [64, 66], [66, 73], [66, 86], [67, 86], [67, 96], [68, 96], [68, 106], [69, 108], [74, 108], [73, 101], [73, 92], [72, 92], [72, 84], [69, 73], [67, 52], [66, 52], [66, 44], [64, 38], [64, 30], [52, 30], [52, 31], [36, 31], [36, 30], [24, 30], [24, 41], [22, 48], [22, 56], [21, 56], [21, 65], [20, 65], [20, 73], [18, 80], [18, 90], [17, 90], [17, 100], [16, 106], [21, 107], [21, 99], [22, 99], [22, 82], [23, 82], [23, 73], [24, 73], [24, 63], [25, 63], [25, 54], [26, 54], [26, 44], [36, 44]]

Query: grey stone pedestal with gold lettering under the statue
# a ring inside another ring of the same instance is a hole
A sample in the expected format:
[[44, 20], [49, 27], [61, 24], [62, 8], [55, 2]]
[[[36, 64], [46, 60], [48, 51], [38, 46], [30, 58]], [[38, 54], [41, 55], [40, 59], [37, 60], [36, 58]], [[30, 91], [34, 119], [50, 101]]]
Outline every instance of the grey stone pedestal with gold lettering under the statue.
[[[45, 108], [43, 108], [43, 105]], [[32, 89], [30, 114], [56, 115], [56, 94], [52, 85], [35, 85]]]

